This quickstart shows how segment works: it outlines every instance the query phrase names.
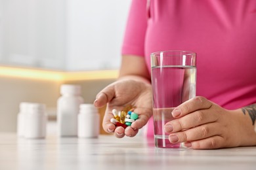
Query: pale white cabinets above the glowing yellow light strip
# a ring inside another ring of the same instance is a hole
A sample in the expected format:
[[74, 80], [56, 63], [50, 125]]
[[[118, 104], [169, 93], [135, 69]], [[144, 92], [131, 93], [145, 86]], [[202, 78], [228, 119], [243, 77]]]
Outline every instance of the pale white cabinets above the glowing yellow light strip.
[[0, 0], [0, 62], [117, 69], [131, 0]]

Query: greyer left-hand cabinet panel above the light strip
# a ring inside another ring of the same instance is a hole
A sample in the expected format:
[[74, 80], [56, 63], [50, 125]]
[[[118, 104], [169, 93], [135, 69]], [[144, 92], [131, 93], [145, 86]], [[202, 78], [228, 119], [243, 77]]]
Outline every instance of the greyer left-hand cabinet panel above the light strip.
[[64, 69], [65, 3], [0, 0], [0, 62]]

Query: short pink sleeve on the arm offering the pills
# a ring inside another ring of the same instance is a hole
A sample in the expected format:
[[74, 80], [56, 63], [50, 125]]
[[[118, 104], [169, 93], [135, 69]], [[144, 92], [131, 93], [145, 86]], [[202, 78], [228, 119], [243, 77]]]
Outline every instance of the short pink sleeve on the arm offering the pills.
[[144, 56], [144, 39], [147, 26], [146, 0], [133, 0], [121, 48], [122, 55]]

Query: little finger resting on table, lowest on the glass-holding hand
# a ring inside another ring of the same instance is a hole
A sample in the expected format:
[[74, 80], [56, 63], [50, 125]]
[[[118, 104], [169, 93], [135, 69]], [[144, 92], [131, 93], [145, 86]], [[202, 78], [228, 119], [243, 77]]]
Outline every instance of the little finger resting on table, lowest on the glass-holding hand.
[[216, 149], [223, 148], [224, 142], [225, 141], [223, 137], [221, 137], [220, 135], [216, 135], [199, 141], [184, 143], [184, 146], [193, 149]]

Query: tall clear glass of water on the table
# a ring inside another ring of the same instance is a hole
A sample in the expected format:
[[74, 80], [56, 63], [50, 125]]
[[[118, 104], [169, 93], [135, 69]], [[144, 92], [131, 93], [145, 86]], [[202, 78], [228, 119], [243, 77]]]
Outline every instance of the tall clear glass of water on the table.
[[151, 58], [155, 146], [184, 148], [169, 142], [164, 126], [173, 120], [175, 107], [196, 96], [196, 53], [188, 51], [154, 52]]

